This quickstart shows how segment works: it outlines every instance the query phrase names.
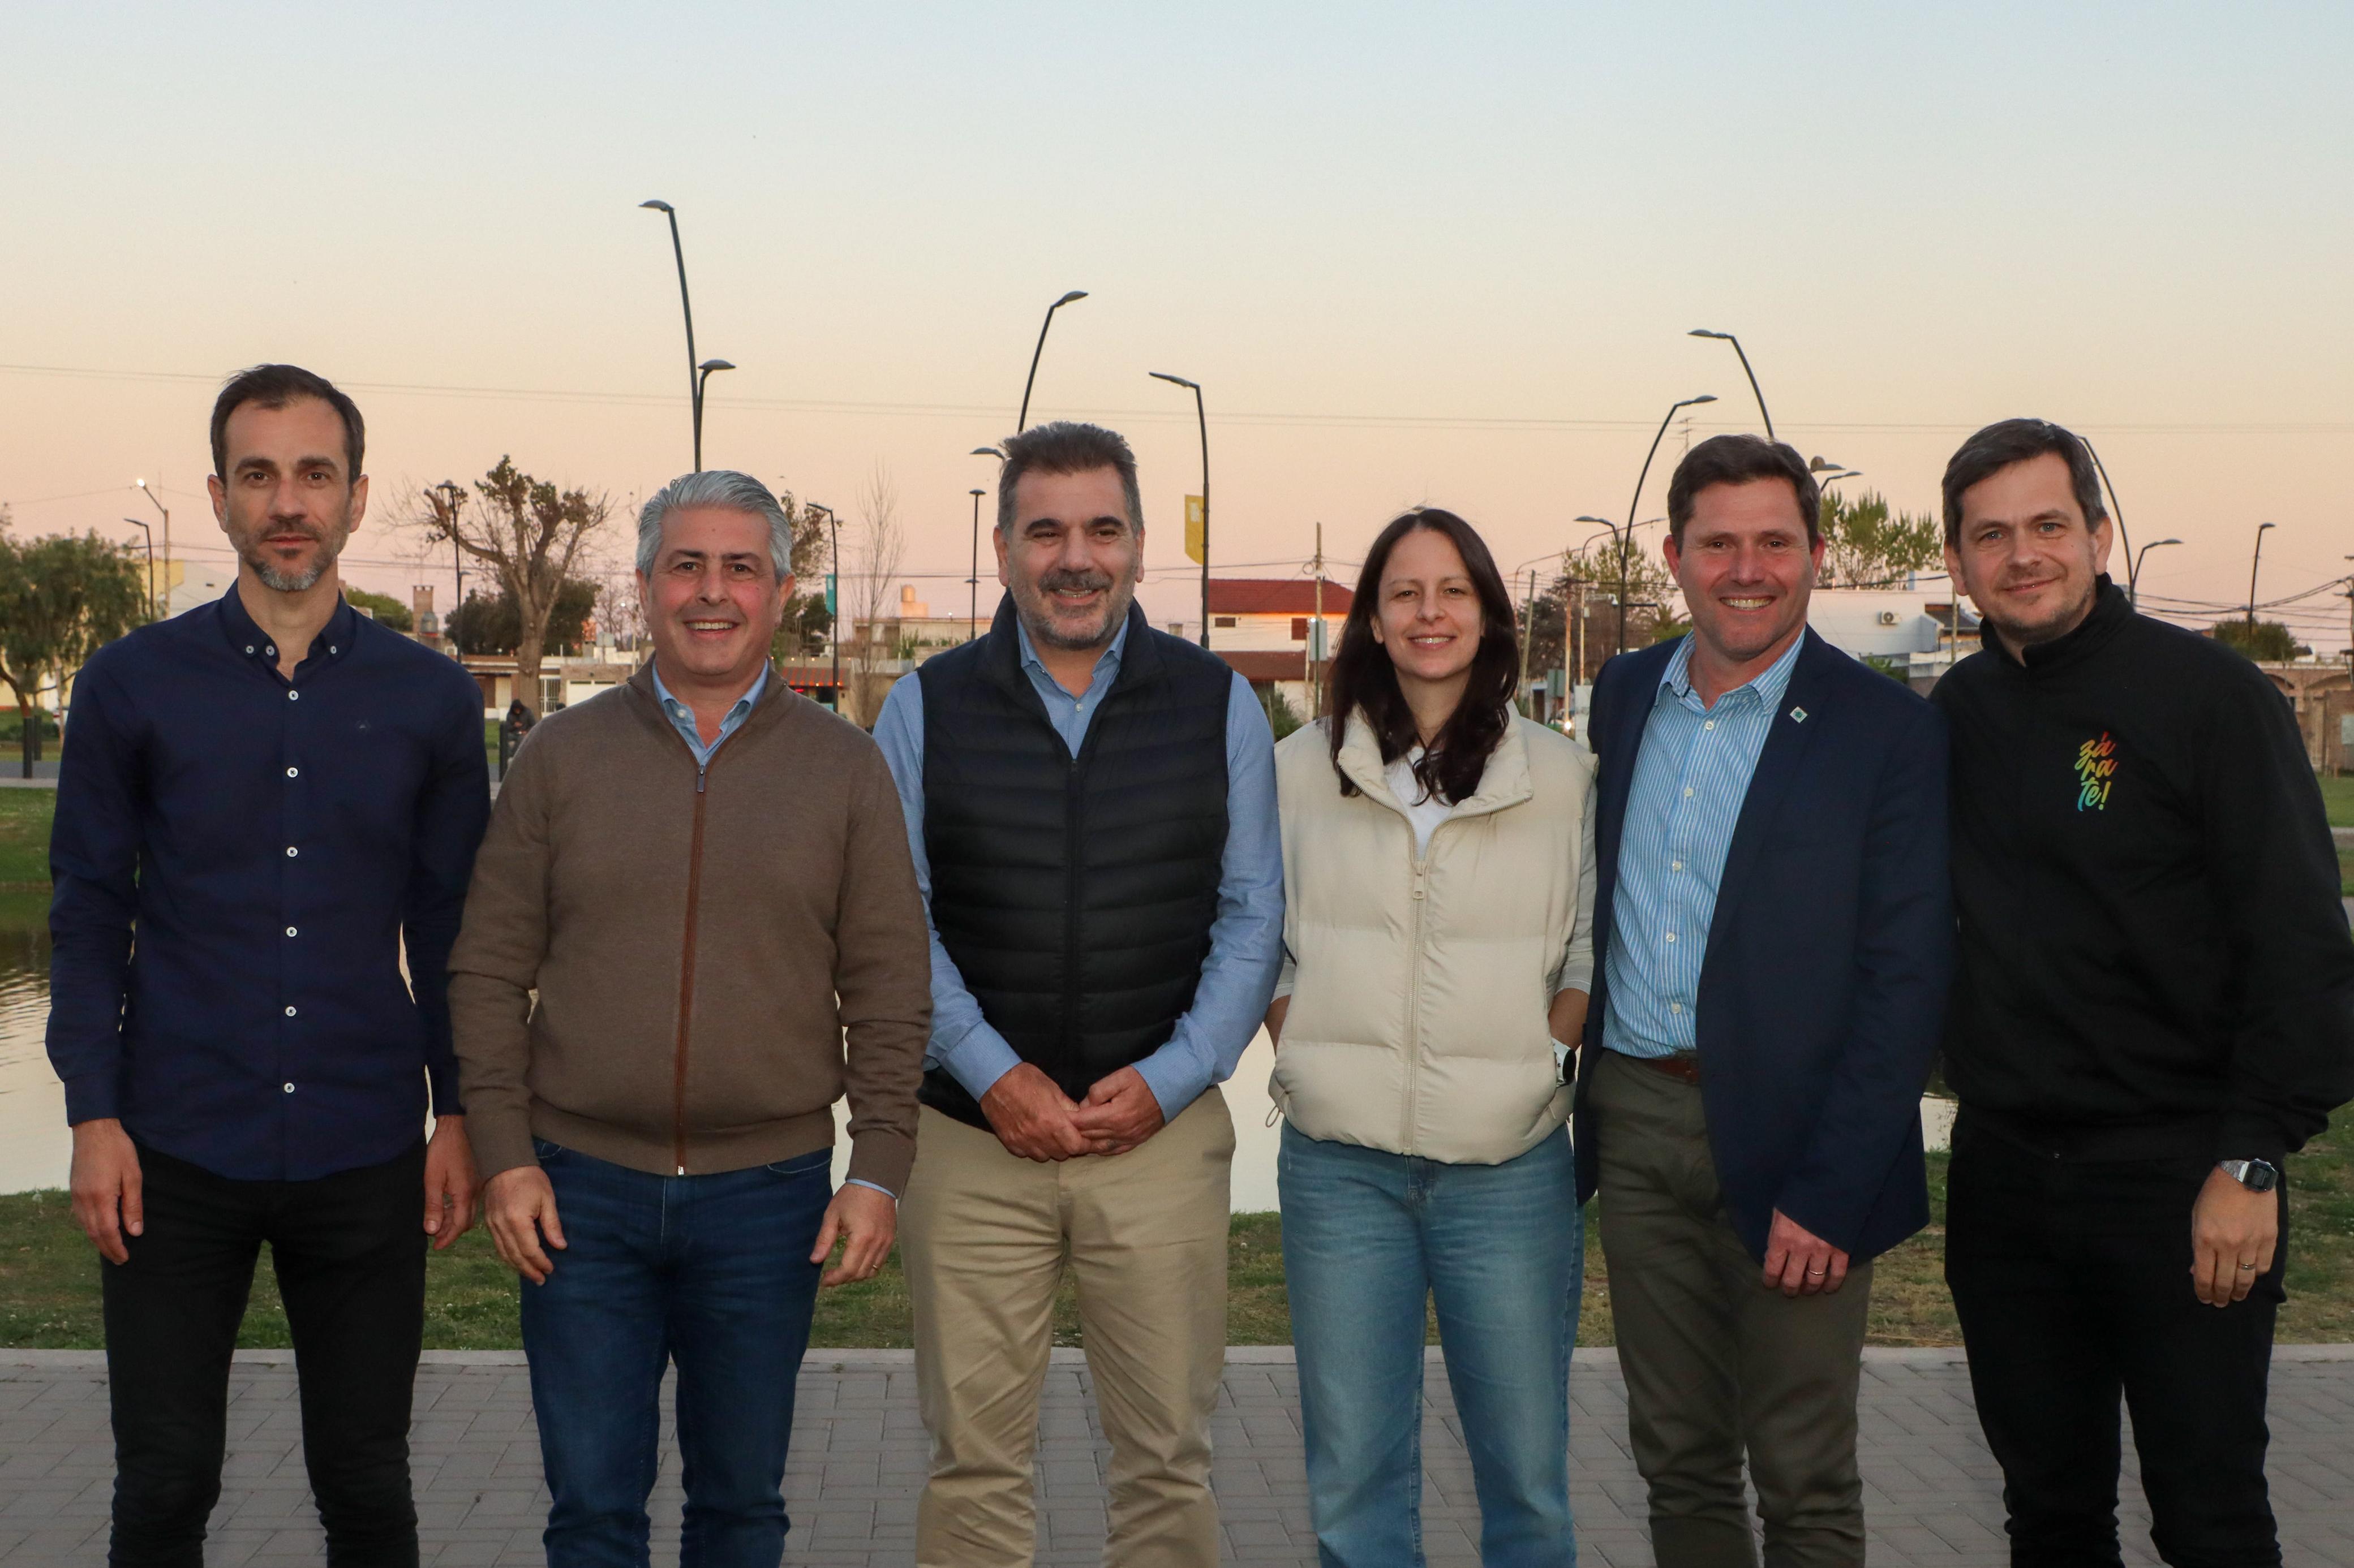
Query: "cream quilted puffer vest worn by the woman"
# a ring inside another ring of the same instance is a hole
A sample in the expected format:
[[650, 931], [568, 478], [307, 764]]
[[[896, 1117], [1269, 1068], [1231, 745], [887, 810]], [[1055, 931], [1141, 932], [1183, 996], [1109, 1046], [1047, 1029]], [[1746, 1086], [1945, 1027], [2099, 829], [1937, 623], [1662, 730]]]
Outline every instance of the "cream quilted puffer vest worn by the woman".
[[1318, 1140], [1457, 1165], [1528, 1154], [1570, 1111], [1544, 1010], [1565, 965], [1591, 965], [1594, 758], [1514, 718], [1417, 859], [1372, 727], [1349, 725], [1361, 793], [1342, 796], [1325, 723], [1276, 746], [1292, 1001], [1269, 1092]]

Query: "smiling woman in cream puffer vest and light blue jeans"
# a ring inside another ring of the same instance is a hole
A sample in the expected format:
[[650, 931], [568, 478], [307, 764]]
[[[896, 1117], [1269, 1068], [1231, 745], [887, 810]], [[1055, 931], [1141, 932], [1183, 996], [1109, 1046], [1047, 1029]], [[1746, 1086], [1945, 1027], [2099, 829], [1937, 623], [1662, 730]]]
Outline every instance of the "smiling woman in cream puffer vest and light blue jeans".
[[[1394, 520], [1276, 746], [1285, 968], [1278, 1184], [1321, 1561], [1419, 1563], [1424, 1307], [1483, 1563], [1575, 1561], [1568, 1370], [1584, 1224], [1565, 1050], [1594, 972], [1594, 760], [1516, 718], [1488, 546]], [[1337, 737], [1335, 737], [1337, 725]]]

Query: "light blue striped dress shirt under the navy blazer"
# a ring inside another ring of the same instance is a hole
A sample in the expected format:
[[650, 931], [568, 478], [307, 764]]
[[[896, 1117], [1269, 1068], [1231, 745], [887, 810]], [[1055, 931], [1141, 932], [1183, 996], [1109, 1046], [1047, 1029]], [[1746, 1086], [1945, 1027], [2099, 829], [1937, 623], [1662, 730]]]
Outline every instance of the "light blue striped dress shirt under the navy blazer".
[[1714, 709], [1693, 690], [1693, 638], [1683, 638], [1660, 676], [1620, 824], [1603, 958], [1610, 982], [1603, 1045], [1610, 1050], [1664, 1057], [1693, 1050], [1700, 1038], [1693, 1008], [1725, 850], [1803, 645], [1801, 633]]

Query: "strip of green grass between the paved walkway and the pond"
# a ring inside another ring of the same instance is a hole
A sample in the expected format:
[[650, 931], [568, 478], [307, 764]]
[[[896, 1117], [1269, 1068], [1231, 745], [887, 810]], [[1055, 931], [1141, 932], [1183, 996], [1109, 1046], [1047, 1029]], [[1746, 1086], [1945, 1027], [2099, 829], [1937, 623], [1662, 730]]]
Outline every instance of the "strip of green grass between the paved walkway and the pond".
[[[1881, 1257], [1871, 1290], [1871, 1344], [1959, 1344], [1944, 1293], [1944, 1156], [1930, 1156], [1930, 1227]], [[2281, 1342], [2354, 1340], [2354, 1132], [2333, 1128], [2288, 1163], [2288, 1307]], [[1226, 1337], [1233, 1344], [1288, 1344], [1283, 1295], [1283, 1222], [1238, 1215], [1226, 1250]], [[1610, 1344], [1608, 1260], [1587, 1220], [1587, 1300], [1580, 1344]], [[2189, 1281], [2182, 1285], [2189, 1290]], [[431, 1349], [513, 1349], [516, 1276], [480, 1229], [426, 1271], [426, 1344]], [[911, 1344], [906, 1276], [899, 1257], [859, 1285], [829, 1290], [817, 1304], [810, 1342], [826, 1349]], [[0, 1344], [99, 1347], [99, 1271], [89, 1243], [73, 1229], [66, 1196], [38, 1191], [0, 1198]], [[247, 1347], [287, 1344], [285, 1309], [268, 1269], [254, 1278]], [[1080, 1344], [1078, 1302], [1069, 1283], [1055, 1307], [1055, 1342]], [[1436, 1342], [1436, 1335], [1434, 1335]]]

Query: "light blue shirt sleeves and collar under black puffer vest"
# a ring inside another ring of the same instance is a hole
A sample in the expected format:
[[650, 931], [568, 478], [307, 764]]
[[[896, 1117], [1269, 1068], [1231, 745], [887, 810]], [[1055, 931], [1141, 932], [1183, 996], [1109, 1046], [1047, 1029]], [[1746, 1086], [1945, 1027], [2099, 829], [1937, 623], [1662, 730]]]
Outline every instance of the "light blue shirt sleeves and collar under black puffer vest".
[[[1071, 749], [1071, 756], [1078, 756], [1095, 711], [1104, 706], [1104, 697], [1121, 673], [1128, 626], [1121, 626], [1111, 647], [1095, 662], [1095, 673], [1080, 697], [1062, 690], [1062, 683], [1045, 671], [1019, 624], [1015, 631], [1022, 640], [1022, 673], [1029, 676], [1038, 702], [1045, 704], [1055, 735]], [[876, 744], [883, 746], [883, 760], [890, 763], [892, 779], [899, 784], [906, 843], [916, 855], [916, 885], [923, 890], [925, 909], [930, 909], [932, 857], [923, 845], [920, 680], [906, 678], [890, 687], [883, 713], [876, 718]], [[1226, 699], [1226, 852], [1219, 862], [1210, 956], [1201, 963], [1193, 1005], [1177, 1019], [1175, 1034], [1161, 1050], [1137, 1062], [1146, 1088], [1161, 1102], [1163, 1121], [1175, 1121], [1177, 1111], [1193, 1104], [1205, 1088], [1233, 1076], [1233, 1064], [1243, 1059], [1243, 1050], [1259, 1031], [1259, 1019], [1266, 1017], [1281, 965], [1283, 838], [1276, 826], [1276, 742], [1250, 683], [1236, 676]], [[949, 958], [937, 928], [932, 930], [932, 1043], [923, 1059], [925, 1067], [946, 1067], [975, 1099], [1022, 1064], [1005, 1036], [982, 1017], [982, 1003], [965, 989], [965, 977], [956, 972], [956, 961]]]

